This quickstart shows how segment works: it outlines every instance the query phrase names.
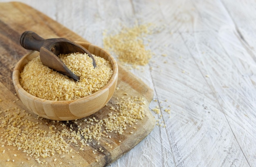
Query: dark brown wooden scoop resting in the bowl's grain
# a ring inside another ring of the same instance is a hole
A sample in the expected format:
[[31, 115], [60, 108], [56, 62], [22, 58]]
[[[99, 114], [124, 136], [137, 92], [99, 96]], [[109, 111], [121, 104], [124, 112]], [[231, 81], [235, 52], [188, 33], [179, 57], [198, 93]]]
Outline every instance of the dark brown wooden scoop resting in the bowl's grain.
[[76, 76], [67, 66], [58, 58], [60, 54], [68, 53], [87, 53], [92, 58], [93, 66], [96, 67], [96, 62], [92, 54], [82, 47], [65, 38], [51, 38], [43, 39], [33, 31], [25, 31], [20, 36], [20, 45], [25, 49], [39, 51], [40, 60], [43, 65], [48, 66], [51, 69], [58, 71], [74, 80], [79, 80], [79, 76]]

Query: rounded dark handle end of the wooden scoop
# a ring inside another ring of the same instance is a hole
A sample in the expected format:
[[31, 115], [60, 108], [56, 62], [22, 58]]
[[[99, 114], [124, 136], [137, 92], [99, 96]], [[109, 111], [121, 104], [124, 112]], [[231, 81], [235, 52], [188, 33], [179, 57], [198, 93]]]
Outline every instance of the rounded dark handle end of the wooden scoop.
[[33, 31], [25, 31], [20, 36], [20, 45], [25, 49], [40, 51], [45, 39]]

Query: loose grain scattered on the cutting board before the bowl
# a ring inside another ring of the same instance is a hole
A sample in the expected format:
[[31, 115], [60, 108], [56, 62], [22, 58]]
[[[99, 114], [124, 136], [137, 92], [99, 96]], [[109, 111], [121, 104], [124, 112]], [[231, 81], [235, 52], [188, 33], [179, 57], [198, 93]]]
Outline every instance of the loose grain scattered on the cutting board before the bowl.
[[[28, 156], [27, 160], [30, 159], [29, 157], [33, 157], [40, 164], [48, 163], [44, 158], [55, 154], [61, 154], [65, 157], [67, 154], [72, 154], [72, 151], [76, 153], [84, 151], [90, 145], [106, 144], [106, 147], [112, 149], [112, 143], [100, 143], [100, 139], [111, 138], [114, 134], [133, 134], [132, 129], [128, 127], [136, 129], [137, 121], [145, 117], [144, 105], [144, 98], [116, 97], [112, 104], [105, 106], [112, 112], [102, 119], [97, 119], [92, 115], [83, 118], [83, 121], [47, 120], [45, 125], [42, 125], [42, 120], [46, 119], [38, 116], [34, 121], [31, 121], [26, 118], [26, 116], [31, 116], [27, 111], [10, 107], [0, 111], [0, 128], [5, 129], [0, 134], [1, 144], [3, 148], [14, 146], [17, 150], [22, 150], [22, 153]], [[56, 123], [58, 123], [58, 127], [56, 127]], [[43, 129], [42, 126], [48, 126], [49, 130]], [[129, 129], [128, 132], [126, 132], [127, 129]], [[70, 145], [74, 145], [77, 149], [73, 150]], [[1, 150], [2, 154], [6, 154], [8, 151], [6, 149]], [[103, 151], [102, 147], [92, 151], [96, 155], [96, 161], [98, 160], [98, 152]], [[71, 157], [74, 158], [74, 155]], [[54, 161], [56, 160], [54, 159]]]

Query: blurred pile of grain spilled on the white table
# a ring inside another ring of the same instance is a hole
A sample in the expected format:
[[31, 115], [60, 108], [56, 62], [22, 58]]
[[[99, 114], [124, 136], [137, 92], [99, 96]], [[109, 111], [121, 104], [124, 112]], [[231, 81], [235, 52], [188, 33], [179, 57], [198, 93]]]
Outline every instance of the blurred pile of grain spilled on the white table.
[[150, 50], [146, 50], [143, 37], [149, 33], [150, 24], [132, 28], [123, 28], [115, 35], [104, 34], [104, 48], [115, 52], [120, 62], [131, 65], [147, 65], [151, 58]]

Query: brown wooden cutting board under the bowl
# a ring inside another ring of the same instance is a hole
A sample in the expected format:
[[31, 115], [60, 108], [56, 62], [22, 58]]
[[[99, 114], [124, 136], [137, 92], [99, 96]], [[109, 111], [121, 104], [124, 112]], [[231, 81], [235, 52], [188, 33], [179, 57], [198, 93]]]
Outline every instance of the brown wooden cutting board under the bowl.
[[[13, 112], [11, 111], [12, 109], [26, 110], [25, 112], [29, 114], [25, 116], [25, 119], [39, 121], [38, 128], [42, 128], [47, 131], [47, 127], [54, 124], [55, 127], [57, 127], [56, 131], [61, 131], [63, 128], [61, 123], [63, 122], [53, 123], [51, 120], [47, 119], [35, 120], [37, 116], [28, 111], [28, 109], [15, 95], [16, 92], [11, 79], [13, 67], [22, 56], [28, 53], [26, 49], [23, 49], [20, 46], [19, 38], [22, 32], [31, 30], [40, 34], [40, 36], [43, 36], [44, 38], [64, 37], [73, 41], [88, 41], [63, 27], [63, 25], [55, 22], [51, 18], [45, 16], [43, 13], [40, 13], [39, 11], [36, 11], [35, 9], [20, 2], [0, 3], [0, 16], [0, 111], [5, 111], [6, 109], [10, 109], [9, 112]], [[126, 131], [122, 135], [112, 133], [109, 134], [111, 135], [111, 138], [101, 138], [97, 148], [101, 147], [104, 149], [104, 152], [99, 153], [98, 151], [94, 154], [93, 150], [95, 150], [95, 145], [92, 145], [92, 143], [89, 143], [89, 146], [87, 146], [83, 151], [79, 151], [79, 148], [71, 144], [70, 148], [74, 150], [72, 153], [66, 154], [65, 157], [63, 157], [63, 155], [54, 154], [54, 156], [49, 158], [40, 158], [40, 160], [44, 160], [45, 162], [44, 164], [39, 164], [33, 157], [30, 157], [30, 160], [28, 160], [28, 156], [26, 153], [22, 153], [22, 150], [18, 150], [14, 146], [5, 145], [4, 147], [0, 147], [0, 166], [20, 165], [30, 167], [33, 165], [33, 167], [58, 167], [72, 165], [77, 167], [103, 167], [120, 158], [143, 140], [150, 131], [152, 131], [155, 125], [155, 119], [148, 109], [148, 104], [153, 98], [153, 90], [151, 90], [136, 76], [132, 75], [132, 73], [126, 71], [126, 69], [121, 65], [119, 65], [119, 79], [117, 87], [119, 87], [119, 89], [115, 91], [115, 94], [111, 98], [109, 104], [111, 105], [117, 97], [120, 98], [124, 96], [125, 92], [127, 93], [127, 95], [125, 95], [126, 97], [143, 97], [146, 100], [146, 105], [144, 107], [146, 116], [143, 120], [138, 120], [137, 125], [127, 127]], [[106, 106], [93, 116], [90, 116], [90, 118], [96, 117], [103, 119], [111, 111], [112, 110]], [[1, 113], [0, 116], [3, 116], [3, 113]], [[83, 119], [77, 120], [76, 124], [77, 123], [84, 124]], [[71, 121], [70, 124], [74, 124], [74, 121]], [[77, 128], [77, 126], [73, 127]], [[131, 134], [130, 131], [133, 131], [133, 134]], [[0, 133], [4, 132], [5, 129], [0, 128]], [[110, 143], [113, 147], [108, 147], [106, 143]], [[5, 153], [1, 154], [3, 150], [5, 150]], [[14, 154], [16, 155], [14, 156]], [[98, 162], [95, 157], [97, 157]], [[8, 159], [9, 161], [7, 161]], [[56, 160], [54, 161], [54, 159]], [[47, 164], [45, 164], [46, 162]]]

